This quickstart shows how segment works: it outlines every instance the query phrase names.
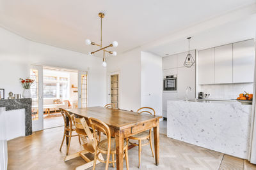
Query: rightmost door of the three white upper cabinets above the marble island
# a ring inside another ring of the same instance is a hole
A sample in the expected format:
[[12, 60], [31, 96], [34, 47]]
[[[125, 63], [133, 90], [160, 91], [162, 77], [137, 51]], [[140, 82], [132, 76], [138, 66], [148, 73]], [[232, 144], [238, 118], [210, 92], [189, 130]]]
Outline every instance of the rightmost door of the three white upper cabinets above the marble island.
[[255, 60], [254, 40], [233, 45], [233, 83], [253, 82]]

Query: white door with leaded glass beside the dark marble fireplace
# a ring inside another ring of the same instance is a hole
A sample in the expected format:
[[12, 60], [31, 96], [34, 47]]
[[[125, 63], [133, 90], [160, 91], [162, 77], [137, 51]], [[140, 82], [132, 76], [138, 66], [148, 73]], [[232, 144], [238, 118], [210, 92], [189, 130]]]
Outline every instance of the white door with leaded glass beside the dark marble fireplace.
[[32, 131], [44, 129], [44, 108], [43, 108], [43, 67], [31, 65], [30, 78], [35, 80], [31, 85], [32, 98]]

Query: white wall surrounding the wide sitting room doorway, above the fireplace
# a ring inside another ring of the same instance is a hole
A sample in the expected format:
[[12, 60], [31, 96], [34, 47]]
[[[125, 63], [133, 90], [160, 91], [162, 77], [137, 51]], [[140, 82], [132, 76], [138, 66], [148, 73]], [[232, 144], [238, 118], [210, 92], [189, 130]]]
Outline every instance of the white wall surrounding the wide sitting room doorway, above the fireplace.
[[22, 94], [19, 78], [29, 76], [30, 64], [88, 71], [88, 106], [106, 103], [106, 68], [102, 59], [35, 43], [0, 28], [0, 88], [5, 95]]

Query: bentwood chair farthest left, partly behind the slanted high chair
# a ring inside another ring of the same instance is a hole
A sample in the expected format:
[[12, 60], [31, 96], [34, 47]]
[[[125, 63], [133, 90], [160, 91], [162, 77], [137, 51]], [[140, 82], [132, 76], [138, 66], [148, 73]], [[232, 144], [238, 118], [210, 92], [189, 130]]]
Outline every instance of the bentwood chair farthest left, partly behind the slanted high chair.
[[[80, 138], [79, 138], [78, 134], [72, 135], [72, 132], [76, 131], [76, 127], [74, 127], [73, 124], [72, 124], [72, 118], [74, 117], [74, 115], [70, 115], [68, 113], [68, 111], [65, 111], [61, 108], [60, 108], [60, 111], [61, 111], [61, 115], [62, 115], [63, 120], [64, 120], [64, 134], [63, 134], [63, 139], [62, 139], [62, 142], [61, 142], [61, 145], [60, 145], [60, 151], [61, 151], [61, 148], [63, 146], [63, 142], [65, 140], [65, 137], [68, 137], [68, 147], [67, 147], [67, 153], [66, 153], [66, 155], [68, 155], [70, 142], [71, 142], [71, 137], [78, 136], [78, 140], [79, 140], [80, 144], [81, 144], [81, 141], [80, 141]], [[67, 125], [67, 118], [66, 117], [68, 118], [69, 125]]]

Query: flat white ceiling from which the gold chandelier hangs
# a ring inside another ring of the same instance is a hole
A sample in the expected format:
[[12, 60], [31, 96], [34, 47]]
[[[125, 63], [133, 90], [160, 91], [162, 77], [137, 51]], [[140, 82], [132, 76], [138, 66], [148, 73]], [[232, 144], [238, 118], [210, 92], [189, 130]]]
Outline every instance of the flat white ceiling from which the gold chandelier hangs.
[[88, 53], [84, 39], [99, 42], [99, 11], [105, 11], [103, 43], [118, 53], [204, 22], [255, 0], [0, 0], [0, 25], [47, 45]]

